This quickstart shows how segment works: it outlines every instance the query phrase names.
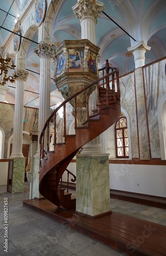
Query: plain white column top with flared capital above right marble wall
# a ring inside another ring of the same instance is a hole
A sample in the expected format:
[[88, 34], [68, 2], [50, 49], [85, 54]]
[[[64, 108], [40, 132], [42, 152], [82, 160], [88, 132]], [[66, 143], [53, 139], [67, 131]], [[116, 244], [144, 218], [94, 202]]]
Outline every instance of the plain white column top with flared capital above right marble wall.
[[136, 46], [127, 48], [134, 55], [135, 69], [145, 66], [145, 53], [150, 49], [151, 47], [147, 46], [144, 41], [139, 42]]

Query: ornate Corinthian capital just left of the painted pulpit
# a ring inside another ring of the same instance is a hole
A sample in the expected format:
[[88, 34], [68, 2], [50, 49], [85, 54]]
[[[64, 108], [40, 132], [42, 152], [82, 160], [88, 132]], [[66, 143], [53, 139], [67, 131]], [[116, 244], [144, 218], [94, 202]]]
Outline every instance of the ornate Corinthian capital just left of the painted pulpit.
[[41, 41], [40, 44], [35, 48], [34, 52], [39, 57], [47, 57], [51, 59], [55, 56], [55, 49], [56, 47], [53, 47], [51, 45], [46, 44], [46, 42]]

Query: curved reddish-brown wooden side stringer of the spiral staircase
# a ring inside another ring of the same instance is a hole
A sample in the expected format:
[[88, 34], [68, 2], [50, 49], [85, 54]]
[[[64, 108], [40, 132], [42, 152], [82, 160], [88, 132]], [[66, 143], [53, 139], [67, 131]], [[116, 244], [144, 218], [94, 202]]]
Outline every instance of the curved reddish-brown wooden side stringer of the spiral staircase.
[[[79, 148], [106, 131], [118, 120], [120, 100], [114, 102], [115, 104], [116, 108], [112, 108], [110, 104], [107, 107], [107, 112], [92, 115], [83, 126], [76, 127], [75, 136], [66, 136], [65, 143], [56, 144], [54, 152], [47, 152], [47, 159], [41, 161], [39, 175], [39, 191], [42, 196], [57, 206], [63, 206], [65, 209], [75, 208], [75, 199], [71, 199], [71, 194], [64, 194], [59, 185], [60, 179]], [[49, 181], [47, 177], [52, 172], [56, 172], [56, 174], [54, 174], [53, 181]]]

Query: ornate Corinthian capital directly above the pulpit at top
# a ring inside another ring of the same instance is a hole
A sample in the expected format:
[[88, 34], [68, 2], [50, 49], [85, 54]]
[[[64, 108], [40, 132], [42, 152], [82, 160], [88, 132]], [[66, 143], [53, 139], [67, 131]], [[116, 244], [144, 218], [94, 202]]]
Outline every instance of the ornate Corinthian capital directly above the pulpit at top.
[[76, 18], [81, 20], [86, 16], [91, 16], [95, 18], [97, 23], [97, 18], [104, 10], [104, 4], [96, 0], [80, 0], [72, 9]]

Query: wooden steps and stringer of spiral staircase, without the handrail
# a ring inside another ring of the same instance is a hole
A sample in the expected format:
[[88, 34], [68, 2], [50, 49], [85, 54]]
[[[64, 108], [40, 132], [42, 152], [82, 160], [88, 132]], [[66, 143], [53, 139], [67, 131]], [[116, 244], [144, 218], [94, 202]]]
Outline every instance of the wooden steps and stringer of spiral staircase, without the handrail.
[[100, 88], [97, 99], [99, 103], [96, 105], [97, 108], [92, 110], [93, 114], [80, 126], [76, 125], [75, 134], [63, 134], [64, 142], [53, 143], [54, 151], [48, 151], [47, 159], [41, 160], [39, 191], [50, 202], [63, 209], [75, 209], [76, 196], [61, 187], [61, 177], [82, 145], [99, 136], [118, 120], [120, 115], [118, 95], [113, 90]]

